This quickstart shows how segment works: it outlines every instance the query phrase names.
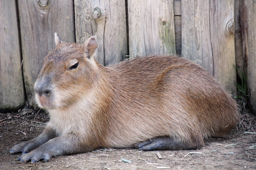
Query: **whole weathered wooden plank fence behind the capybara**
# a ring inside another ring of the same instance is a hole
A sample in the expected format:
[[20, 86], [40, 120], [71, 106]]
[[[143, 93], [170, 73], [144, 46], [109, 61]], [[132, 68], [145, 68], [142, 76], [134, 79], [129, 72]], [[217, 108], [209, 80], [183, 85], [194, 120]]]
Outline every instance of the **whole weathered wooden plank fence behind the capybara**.
[[76, 43], [96, 35], [102, 65], [179, 54], [233, 96], [240, 68], [256, 111], [254, 14], [254, 0], [1, 0], [0, 109], [33, 104], [34, 82], [57, 32]]

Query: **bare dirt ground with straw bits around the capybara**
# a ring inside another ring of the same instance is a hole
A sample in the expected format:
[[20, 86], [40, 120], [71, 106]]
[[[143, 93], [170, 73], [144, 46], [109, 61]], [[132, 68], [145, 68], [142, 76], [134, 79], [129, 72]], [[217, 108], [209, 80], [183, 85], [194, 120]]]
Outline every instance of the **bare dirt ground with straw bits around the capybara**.
[[30, 109], [0, 113], [0, 169], [26, 170], [256, 170], [256, 117], [242, 113], [236, 128], [225, 138], [210, 139], [197, 150], [140, 151], [138, 149], [99, 149], [92, 152], [58, 156], [49, 162], [22, 163], [10, 154], [16, 144], [39, 135], [48, 121], [43, 111]]

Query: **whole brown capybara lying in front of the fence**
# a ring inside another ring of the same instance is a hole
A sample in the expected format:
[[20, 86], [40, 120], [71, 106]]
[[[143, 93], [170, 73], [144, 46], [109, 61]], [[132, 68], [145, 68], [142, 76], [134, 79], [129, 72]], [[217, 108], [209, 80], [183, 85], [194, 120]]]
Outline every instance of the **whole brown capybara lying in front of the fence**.
[[76, 44], [55, 34], [55, 43], [34, 85], [50, 121], [10, 150], [22, 162], [98, 148], [197, 149], [236, 125], [236, 102], [191, 61], [152, 55], [104, 67], [96, 37]]

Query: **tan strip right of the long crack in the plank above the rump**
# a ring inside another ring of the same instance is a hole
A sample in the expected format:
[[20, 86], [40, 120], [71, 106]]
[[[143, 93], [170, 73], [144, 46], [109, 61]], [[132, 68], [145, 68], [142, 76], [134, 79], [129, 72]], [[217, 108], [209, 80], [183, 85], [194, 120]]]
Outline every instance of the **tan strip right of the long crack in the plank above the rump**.
[[210, 32], [214, 77], [226, 90], [236, 96], [234, 0], [210, 2]]

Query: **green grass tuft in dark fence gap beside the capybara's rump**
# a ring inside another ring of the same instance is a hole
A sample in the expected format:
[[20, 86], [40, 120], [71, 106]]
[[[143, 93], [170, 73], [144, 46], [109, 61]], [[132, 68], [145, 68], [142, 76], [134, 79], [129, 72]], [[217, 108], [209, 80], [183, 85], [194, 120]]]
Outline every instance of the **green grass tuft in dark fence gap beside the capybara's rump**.
[[246, 98], [249, 96], [249, 95], [247, 95], [247, 86], [246, 86], [247, 76], [244, 76], [244, 74], [240, 68], [236, 68], [236, 69], [238, 70], [238, 72], [240, 72], [241, 82], [240, 83], [236, 82], [238, 95], [235, 98], [241, 104], [241, 107], [243, 107], [245, 109], [245, 106], [247, 104]]

